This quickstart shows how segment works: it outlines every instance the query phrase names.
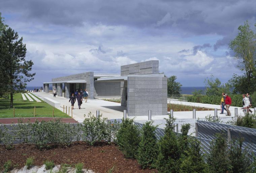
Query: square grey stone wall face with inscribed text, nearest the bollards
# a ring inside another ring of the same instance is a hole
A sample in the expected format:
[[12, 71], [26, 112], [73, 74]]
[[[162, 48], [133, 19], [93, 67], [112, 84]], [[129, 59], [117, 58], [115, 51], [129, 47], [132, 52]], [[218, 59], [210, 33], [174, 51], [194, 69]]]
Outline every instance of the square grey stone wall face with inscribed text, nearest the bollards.
[[129, 116], [167, 114], [167, 77], [128, 76], [127, 94]]

